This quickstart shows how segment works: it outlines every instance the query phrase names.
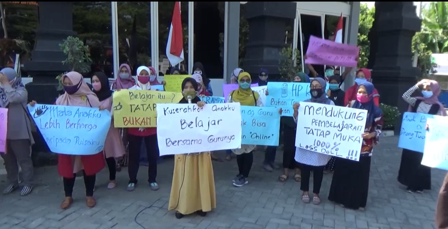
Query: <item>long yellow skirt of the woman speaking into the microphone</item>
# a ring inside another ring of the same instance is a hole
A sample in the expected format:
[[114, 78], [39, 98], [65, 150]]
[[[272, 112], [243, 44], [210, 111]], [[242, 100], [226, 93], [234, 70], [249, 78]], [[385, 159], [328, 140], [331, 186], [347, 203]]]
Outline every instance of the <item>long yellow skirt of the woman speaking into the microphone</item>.
[[168, 210], [188, 215], [199, 210], [210, 212], [213, 208], [216, 194], [210, 151], [175, 155]]

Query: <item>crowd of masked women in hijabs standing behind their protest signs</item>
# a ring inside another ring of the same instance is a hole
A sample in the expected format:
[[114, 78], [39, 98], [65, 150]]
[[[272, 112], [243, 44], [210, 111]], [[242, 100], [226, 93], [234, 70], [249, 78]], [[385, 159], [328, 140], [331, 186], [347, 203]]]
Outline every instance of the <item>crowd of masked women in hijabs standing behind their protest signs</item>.
[[[310, 66], [311, 69], [312, 66]], [[315, 71], [314, 78], [304, 72], [298, 72], [292, 82], [310, 83], [311, 98], [305, 102], [327, 104], [329, 106], [348, 106], [367, 110], [367, 119], [362, 134], [361, 157], [359, 161], [343, 158], [332, 158], [326, 154], [295, 147], [296, 126], [301, 117], [297, 110], [300, 103], [293, 104], [293, 117], [281, 118], [283, 134], [283, 170], [278, 178], [279, 182], [286, 182], [289, 170], [294, 170], [293, 179], [301, 182], [302, 201], [304, 203], [320, 204], [319, 195], [324, 173], [333, 173], [328, 199], [345, 208], [364, 209], [369, 189], [370, 164], [373, 147], [378, 143], [383, 126], [383, 113], [379, 109], [379, 94], [370, 82], [370, 71], [361, 68], [356, 71], [354, 85], [346, 92], [340, 89], [341, 83], [351, 68], [335, 75], [335, 69], [327, 67], [321, 76]], [[8, 108], [7, 153], [2, 153], [9, 185], [4, 194], [17, 190], [18, 165], [22, 168], [23, 187], [20, 195], [28, 195], [33, 189], [33, 165], [30, 158], [30, 146], [33, 144], [33, 121], [26, 110], [27, 92], [21, 78], [11, 68], [0, 71], [0, 102], [1, 107]], [[157, 81], [154, 68], [140, 66], [136, 69], [137, 81], [131, 74], [127, 64], [121, 64], [119, 77], [109, 85], [108, 77], [103, 72], [95, 72], [91, 77], [92, 87], [84, 81], [78, 72], [68, 72], [62, 77], [64, 93], [56, 100], [56, 105], [84, 106], [111, 110], [112, 89], [148, 90], [151, 85], [164, 85]], [[171, 74], [179, 74], [178, 68], [172, 68]], [[258, 74], [258, 85], [267, 85], [269, 75], [266, 69]], [[253, 83], [249, 73], [237, 68], [231, 74], [231, 81], [238, 84], [238, 89], [232, 91], [227, 102], [239, 102], [244, 106], [263, 106], [260, 95], [250, 88]], [[329, 84], [329, 89], [325, 88]], [[208, 106], [201, 101], [200, 96], [213, 95], [210, 80], [200, 63], [194, 64], [191, 77], [185, 78], [181, 85], [184, 98], [179, 103], [188, 103], [185, 99], [191, 97], [191, 102], [198, 106]], [[410, 97], [414, 91], [420, 89], [422, 97]], [[266, 92], [269, 93], [268, 91]], [[437, 100], [440, 87], [436, 81], [422, 80], [403, 94], [403, 99], [409, 103], [409, 111], [427, 114], [446, 115], [443, 105]], [[36, 102], [30, 102], [34, 106]], [[279, 111], [281, 114], [281, 110]], [[112, 118], [113, 118], [113, 113]], [[159, 123], [168, 125], [168, 123]], [[139, 170], [140, 147], [142, 142], [146, 145], [148, 165], [148, 183], [151, 190], [159, 189], [157, 178], [157, 159], [159, 149], [157, 144], [157, 127], [151, 128], [125, 128], [114, 127], [113, 121], [109, 129], [106, 143], [102, 152], [95, 155], [74, 156], [58, 154], [58, 172], [63, 177], [65, 198], [61, 203], [62, 209], [69, 208], [73, 203], [72, 192], [75, 176], [78, 172], [84, 176], [86, 187], [86, 206], [94, 207], [96, 200], [93, 197], [95, 179], [100, 170], [106, 165], [109, 170], [108, 188], [116, 187], [116, 161], [126, 157], [128, 161], [129, 182], [128, 191], [137, 187], [137, 174]], [[125, 147], [127, 146], [127, 147]], [[126, 150], [127, 148], [127, 150]], [[249, 183], [250, 170], [254, 161], [255, 145], [242, 145], [238, 149], [230, 149], [226, 159], [232, 160], [236, 154], [238, 172], [232, 179], [236, 187]], [[263, 168], [267, 171], [275, 169], [277, 147], [267, 147], [264, 155]], [[207, 212], [216, 207], [215, 183], [212, 167], [212, 153], [198, 152], [175, 155], [174, 173], [172, 178], [171, 195], [169, 199], [170, 210], [176, 209], [176, 217], [181, 218], [187, 214], [196, 213], [205, 216]], [[431, 169], [421, 165], [422, 153], [403, 150], [398, 181], [407, 186], [409, 192], [422, 192], [431, 188]], [[310, 195], [310, 174], [313, 172], [313, 190]]]

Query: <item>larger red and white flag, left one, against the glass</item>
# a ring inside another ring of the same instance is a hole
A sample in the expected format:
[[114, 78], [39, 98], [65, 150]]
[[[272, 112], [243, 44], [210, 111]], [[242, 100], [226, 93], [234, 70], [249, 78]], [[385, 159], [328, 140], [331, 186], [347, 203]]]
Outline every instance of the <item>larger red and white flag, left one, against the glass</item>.
[[174, 4], [171, 27], [168, 34], [167, 57], [169, 63], [175, 66], [184, 60], [184, 41], [182, 37], [181, 2]]

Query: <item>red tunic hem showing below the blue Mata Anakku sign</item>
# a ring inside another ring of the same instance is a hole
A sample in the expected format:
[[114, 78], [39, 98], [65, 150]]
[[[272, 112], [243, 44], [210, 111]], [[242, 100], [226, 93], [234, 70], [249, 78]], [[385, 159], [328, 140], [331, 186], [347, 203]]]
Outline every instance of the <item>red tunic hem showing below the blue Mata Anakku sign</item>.
[[[57, 170], [60, 176], [73, 178], [73, 155], [58, 154]], [[103, 151], [93, 155], [81, 155], [81, 162], [87, 176], [95, 175], [106, 165]]]

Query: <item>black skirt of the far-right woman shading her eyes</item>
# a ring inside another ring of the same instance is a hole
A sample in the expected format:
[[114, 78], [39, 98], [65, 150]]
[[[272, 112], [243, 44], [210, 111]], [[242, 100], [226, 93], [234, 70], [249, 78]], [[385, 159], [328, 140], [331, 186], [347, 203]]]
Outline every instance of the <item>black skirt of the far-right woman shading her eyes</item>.
[[422, 165], [423, 153], [403, 149], [398, 182], [416, 190], [431, 190], [431, 168]]

